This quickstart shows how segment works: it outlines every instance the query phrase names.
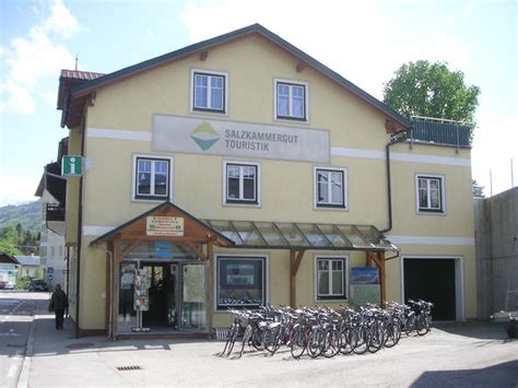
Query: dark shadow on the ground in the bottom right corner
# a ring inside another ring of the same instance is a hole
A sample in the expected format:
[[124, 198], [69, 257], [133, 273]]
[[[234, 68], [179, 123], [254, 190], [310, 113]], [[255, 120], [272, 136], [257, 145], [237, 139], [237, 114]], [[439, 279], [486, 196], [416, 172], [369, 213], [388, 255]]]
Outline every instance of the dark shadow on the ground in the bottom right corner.
[[480, 369], [429, 371], [423, 373], [411, 387], [516, 387], [518, 361]]

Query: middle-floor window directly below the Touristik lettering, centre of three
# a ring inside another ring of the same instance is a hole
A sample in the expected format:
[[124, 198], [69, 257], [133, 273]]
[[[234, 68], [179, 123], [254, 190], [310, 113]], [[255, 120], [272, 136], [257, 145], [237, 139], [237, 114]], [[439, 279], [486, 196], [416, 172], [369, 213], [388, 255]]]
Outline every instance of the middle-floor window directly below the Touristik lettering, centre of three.
[[260, 204], [260, 164], [224, 162], [224, 199], [227, 204]]

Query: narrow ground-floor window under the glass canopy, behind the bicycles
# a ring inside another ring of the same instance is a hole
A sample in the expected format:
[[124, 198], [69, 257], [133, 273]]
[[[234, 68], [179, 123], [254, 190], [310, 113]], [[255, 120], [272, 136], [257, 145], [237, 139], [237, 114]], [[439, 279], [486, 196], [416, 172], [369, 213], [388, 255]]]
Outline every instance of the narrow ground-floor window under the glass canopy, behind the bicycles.
[[315, 258], [316, 301], [343, 301], [348, 298], [349, 257]]

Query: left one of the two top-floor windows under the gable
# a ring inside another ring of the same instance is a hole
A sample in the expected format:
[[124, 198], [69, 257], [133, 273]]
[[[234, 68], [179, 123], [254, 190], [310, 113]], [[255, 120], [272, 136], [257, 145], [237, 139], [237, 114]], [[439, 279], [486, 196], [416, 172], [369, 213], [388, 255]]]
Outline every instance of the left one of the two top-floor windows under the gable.
[[228, 74], [191, 70], [191, 110], [225, 114]]

